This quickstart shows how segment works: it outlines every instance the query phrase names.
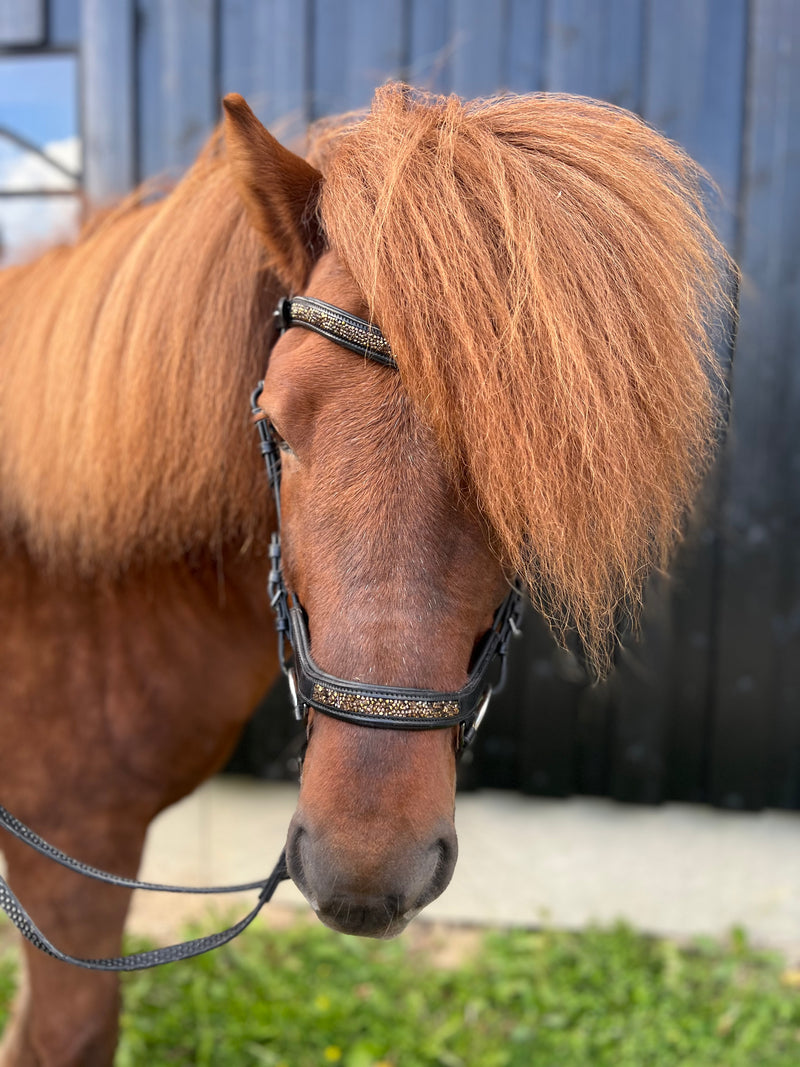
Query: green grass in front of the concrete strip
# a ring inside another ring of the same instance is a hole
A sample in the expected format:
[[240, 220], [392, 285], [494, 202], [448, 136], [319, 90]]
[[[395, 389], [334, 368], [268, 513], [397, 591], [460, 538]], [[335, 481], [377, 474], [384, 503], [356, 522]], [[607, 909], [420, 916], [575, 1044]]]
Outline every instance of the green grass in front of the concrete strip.
[[[443, 938], [446, 934], [443, 935]], [[487, 934], [443, 967], [299, 923], [125, 982], [117, 1067], [796, 1067], [796, 972], [742, 935]], [[12, 985], [0, 958], [0, 1021]]]

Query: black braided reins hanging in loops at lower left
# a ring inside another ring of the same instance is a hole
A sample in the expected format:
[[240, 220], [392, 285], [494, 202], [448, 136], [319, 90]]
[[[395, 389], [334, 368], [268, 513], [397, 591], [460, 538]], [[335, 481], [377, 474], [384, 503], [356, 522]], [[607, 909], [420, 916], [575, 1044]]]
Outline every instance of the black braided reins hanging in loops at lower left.
[[189, 959], [192, 956], [199, 956], [211, 949], [218, 949], [226, 944], [245, 929], [256, 918], [261, 908], [273, 896], [275, 890], [282, 881], [289, 877], [286, 870], [286, 854], [281, 853], [277, 863], [269, 878], [260, 881], [251, 881], [238, 886], [163, 886], [151, 881], [137, 881], [135, 878], [124, 878], [121, 875], [109, 874], [99, 867], [91, 866], [67, 856], [60, 848], [49, 844], [44, 838], [34, 833], [30, 827], [26, 826], [18, 818], [0, 806], [0, 826], [13, 833], [15, 838], [23, 844], [30, 846], [35, 851], [41, 853], [48, 859], [61, 863], [62, 866], [77, 874], [85, 875], [87, 878], [95, 878], [97, 881], [107, 882], [110, 886], [118, 886], [125, 889], [143, 889], [149, 892], [160, 893], [236, 893], [250, 889], [260, 889], [256, 906], [238, 923], [221, 930], [219, 934], [209, 934], [205, 937], [194, 938], [191, 941], [183, 941], [180, 944], [166, 945], [163, 949], [150, 949], [147, 952], [134, 952], [128, 956], [112, 956], [108, 959], [83, 959], [80, 956], [70, 956], [57, 949], [49, 941], [42, 930], [36, 926], [31, 917], [25, 910], [17, 897], [12, 892], [4, 878], [0, 878], [0, 908], [6, 913], [19, 933], [31, 942], [36, 949], [60, 959], [64, 964], [74, 964], [90, 971], [143, 971], [150, 967], [159, 967], [161, 964], [175, 962], [178, 959]]

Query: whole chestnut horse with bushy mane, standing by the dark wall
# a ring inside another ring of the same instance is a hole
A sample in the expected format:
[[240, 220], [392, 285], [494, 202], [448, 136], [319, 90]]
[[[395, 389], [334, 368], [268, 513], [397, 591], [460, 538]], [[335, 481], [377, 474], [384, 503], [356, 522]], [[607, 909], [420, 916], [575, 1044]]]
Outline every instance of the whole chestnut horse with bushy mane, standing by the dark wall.
[[[132, 876], [154, 816], [229, 755], [281, 668], [259, 378], [321, 671], [458, 691], [512, 582], [607, 671], [719, 436], [730, 265], [703, 180], [582, 98], [389, 84], [301, 156], [230, 95], [169, 194], [6, 269], [0, 802]], [[303, 294], [395, 366], [276, 333]], [[329, 925], [394, 936], [452, 875], [459, 728], [313, 707], [306, 730], [290, 874]], [[2, 847], [60, 947], [118, 953], [129, 894]], [[3, 1067], [110, 1064], [114, 976], [23, 966]]]

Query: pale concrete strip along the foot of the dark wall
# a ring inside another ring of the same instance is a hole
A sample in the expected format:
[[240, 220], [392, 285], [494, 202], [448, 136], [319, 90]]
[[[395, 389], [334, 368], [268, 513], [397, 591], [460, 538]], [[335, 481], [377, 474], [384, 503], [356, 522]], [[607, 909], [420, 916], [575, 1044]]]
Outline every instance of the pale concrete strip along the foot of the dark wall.
[[[154, 824], [143, 877], [190, 885], [263, 877], [295, 797], [291, 785], [209, 782]], [[457, 826], [455, 875], [423, 912], [429, 920], [579, 927], [624, 919], [681, 937], [741, 925], [755, 943], [800, 959], [800, 814], [484, 791], [459, 797]], [[137, 896], [132, 927], [157, 937], [208, 907], [207, 898]], [[246, 899], [223, 897], [221, 907], [243, 913]], [[270, 923], [308, 911], [289, 882], [275, 902]]]

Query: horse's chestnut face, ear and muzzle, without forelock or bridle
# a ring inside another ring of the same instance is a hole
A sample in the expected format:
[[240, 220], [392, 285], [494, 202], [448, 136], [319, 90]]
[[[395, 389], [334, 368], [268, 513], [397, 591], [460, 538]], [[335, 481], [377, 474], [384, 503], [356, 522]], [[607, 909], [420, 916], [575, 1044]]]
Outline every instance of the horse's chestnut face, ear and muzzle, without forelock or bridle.
[[[335, 251], [315, 254], [321, 175], [243, 102], [226, 107], [240, 188], [287, 289], [367, 317]], [[364, 685], [459, 690], [508, 583], [400, 376], [289, 331], [260, 405], [281, 439], [284, 574], [315, 662]], [[311, 710], [307, 732], [292, 878], [327, 925], [396, 934], [452, 875], [459, 728], [369, 729]]]

